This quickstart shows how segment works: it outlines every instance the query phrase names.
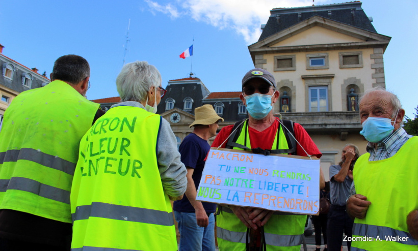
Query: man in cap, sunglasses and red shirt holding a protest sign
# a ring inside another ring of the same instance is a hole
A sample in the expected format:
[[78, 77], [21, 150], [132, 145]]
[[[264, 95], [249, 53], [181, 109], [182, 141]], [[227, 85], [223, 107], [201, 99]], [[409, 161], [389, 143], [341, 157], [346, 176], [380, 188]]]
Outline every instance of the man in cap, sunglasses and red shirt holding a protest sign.
[[[258, 68], [250, 70], [242, 80], [242, 90], [240, 99], [247, 107], [248, 119], [222, 128], [212, 147], [322, 156], [300, 124], [273, 116], [279, 91], [271, 73]], [[324, 186], [321, 172], [321, 187]], [[219, 206], [218, 214], [220, 250], [248, 250], [248, 245], [250, 250], [261, 245], [267, 250], [300, 249], [306, 215], [280, 215], [270, 210], [231, 205]]]

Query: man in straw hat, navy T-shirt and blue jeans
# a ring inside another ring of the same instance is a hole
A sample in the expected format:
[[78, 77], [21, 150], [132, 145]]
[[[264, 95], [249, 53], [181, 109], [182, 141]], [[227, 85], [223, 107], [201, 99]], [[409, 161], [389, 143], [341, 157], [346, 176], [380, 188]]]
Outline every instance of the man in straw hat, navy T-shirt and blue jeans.
[[196, 201], [204, 159], [211, 146], [207, 140], [216, 136], [219, 120], [211, 105], [195, 109], [194, 127], [180, 144], [181, 162], [187, 168], [187, 189], [183, 199], [174, 202], [174, 215], [180, 231], [179, 250], [215, 250], [214, 213], [216, 204]]

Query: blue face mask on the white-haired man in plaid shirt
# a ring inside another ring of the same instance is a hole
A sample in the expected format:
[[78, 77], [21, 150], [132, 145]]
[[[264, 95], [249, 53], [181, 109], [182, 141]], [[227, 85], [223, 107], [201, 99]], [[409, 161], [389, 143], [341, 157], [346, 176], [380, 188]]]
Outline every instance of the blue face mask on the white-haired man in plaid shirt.
[[[398, 117], [398, 112], [396, 113], [395, 120]], [[392, 122], [395, 124], [395, 121], [391, 121], [390, 118], [368, 117], [361, 124], [363, 130], [360, 131], [360, 134], [372, 143], [379, 143], [395, 130]]]

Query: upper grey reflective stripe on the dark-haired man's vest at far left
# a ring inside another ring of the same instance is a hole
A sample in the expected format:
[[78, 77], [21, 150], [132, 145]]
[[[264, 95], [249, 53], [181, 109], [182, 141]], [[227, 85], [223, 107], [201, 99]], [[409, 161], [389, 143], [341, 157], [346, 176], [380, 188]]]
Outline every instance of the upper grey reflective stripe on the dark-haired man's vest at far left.
[[74, 175], [76, 165], [72, 162], [61, 159], [58, 156], [46, 154], [40, 150], [32, 148], [22, 148], [20, 150], [7, 150], [5, 152], [0, 152], [0, 164], [3, 164], [4, 162], [16, 162], [18, 160], [32, 161], [41, 164], [42, 166], [54, 168], [71, 175]]

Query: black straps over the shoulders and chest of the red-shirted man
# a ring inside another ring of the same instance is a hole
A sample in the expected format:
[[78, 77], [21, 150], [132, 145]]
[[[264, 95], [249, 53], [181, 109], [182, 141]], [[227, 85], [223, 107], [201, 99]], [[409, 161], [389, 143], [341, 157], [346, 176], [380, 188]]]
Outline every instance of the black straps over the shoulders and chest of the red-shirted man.
[[[247, 123], [243, 123], [244, 120], [246, 120], [246, 119], [240, 120], [233, 125], [232, 133], [229, 136], [228, 142], [226, 143], [226, 148], [232, 149], [233, 147], [239, 147], [239, 148], [243, 148], [245, 150], [250, 149], [254, 153], [262, 153], [264, 155], [269, 155], [270, 153], [275, 153], [275, 154], [291, 153], [291, 154], [296, 155], [296, 140], [295, 140], [294, 137], [292, 137], [292, 135], [293, 136], [295, 135], [295, 131], [294, 131], [294, 128], [293, 128], [294, 122], [292, 120], [285, 120], [285, 119], [280, 120], [280, 122], [281, 122], [280, 126], [284, 125], [284, 127], [285, 127], [285, 128], [283, 128], [283, 132], [284, 132], [284, 135], [286, 137], [286, 141], [288, 142], [288, 146], [290, 147], [290, 149], [278, 149], [279, 148], [279, 131], [280, 130], [277, 130], [276, 150], [263, 150], [259, 147], [251, 149], [251, 148], [248, 148], [247, 146], [245, 146], [247, 144], [246, 141], [247, 141], [247, 132], [248, 132], [248, 130], [247, 130], [248, 129], [248, 121], [247, 121]], [[243, 129], [243, 127], [244, 127], [244, 124], [246, 125], [244, 145], [241, 145], [241, 144], [238, 144], [236, 142], [237, 142], [238, 137], [240, 136], [240, 133], [241, 133], [241, 130]], [[290, 134], [292, 134], [292, 135], [290, 135]]]

